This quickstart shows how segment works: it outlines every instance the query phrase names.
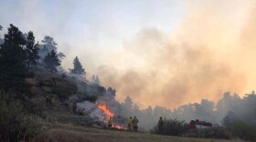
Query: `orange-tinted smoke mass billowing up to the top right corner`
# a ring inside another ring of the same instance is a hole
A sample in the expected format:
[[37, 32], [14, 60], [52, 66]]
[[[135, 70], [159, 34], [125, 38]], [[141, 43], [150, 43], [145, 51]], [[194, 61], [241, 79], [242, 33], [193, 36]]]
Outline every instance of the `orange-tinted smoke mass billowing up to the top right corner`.
[[255, 88], [253, 2], [186, 4], [186, 18], [174, 33], [144, 29], [112, 53], [112, 65], [98, 68], [101, 82], [115, 87], [119, 100], [131, 96], [141, 106], [174, 108]]

